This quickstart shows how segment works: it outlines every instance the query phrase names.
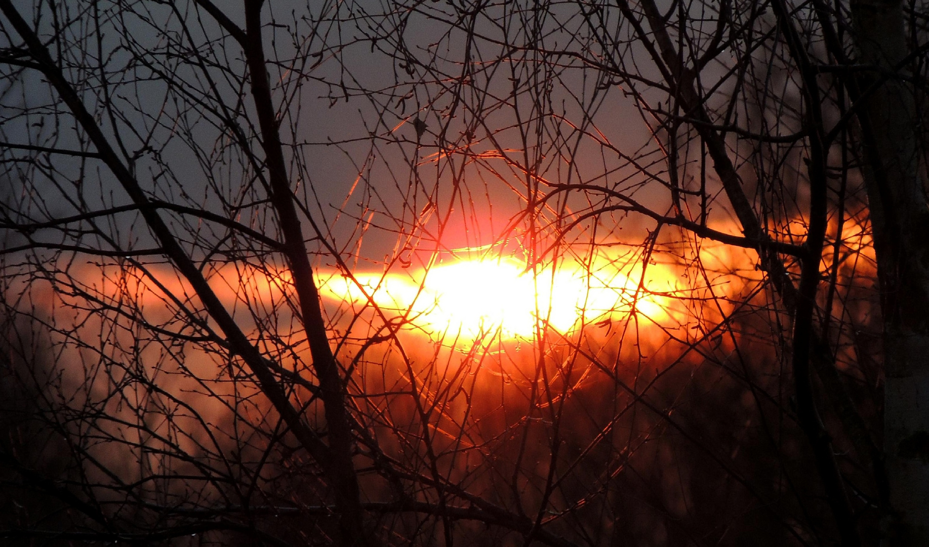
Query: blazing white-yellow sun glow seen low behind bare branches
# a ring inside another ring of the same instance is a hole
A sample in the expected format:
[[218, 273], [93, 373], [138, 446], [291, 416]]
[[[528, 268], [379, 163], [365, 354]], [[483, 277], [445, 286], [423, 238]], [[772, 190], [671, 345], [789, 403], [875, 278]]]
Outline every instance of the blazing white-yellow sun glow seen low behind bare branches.
[[[582, 321], [629, 313], [637, 281], [615, 267], [603, 268], [611, 272], [606, 277], [592, 269], [576, 265], [533, 273], [516, 259], [460, 261], [407, 275], [334, 276], [323, 280], [322, 293], [353, 305], [370, 297], [394, 314], [409, 310], [410, 325], [433, 334], [530, 338], [540, 328], [569, 332]], [[635, 306], [655, 316], [662, 313], [661, 300], [639, 292]]]

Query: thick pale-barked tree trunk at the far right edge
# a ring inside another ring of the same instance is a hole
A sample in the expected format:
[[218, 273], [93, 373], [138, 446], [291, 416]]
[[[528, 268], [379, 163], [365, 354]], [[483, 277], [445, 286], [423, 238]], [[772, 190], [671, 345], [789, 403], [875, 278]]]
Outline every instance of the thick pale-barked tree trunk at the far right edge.
[[917, 118], [905, 79], [899, 0], [852, 4], [865, 181], [882, 290], [883, 449], [890, 483], [884, 545], [929, 545], [929, 210], [919, 176]]

